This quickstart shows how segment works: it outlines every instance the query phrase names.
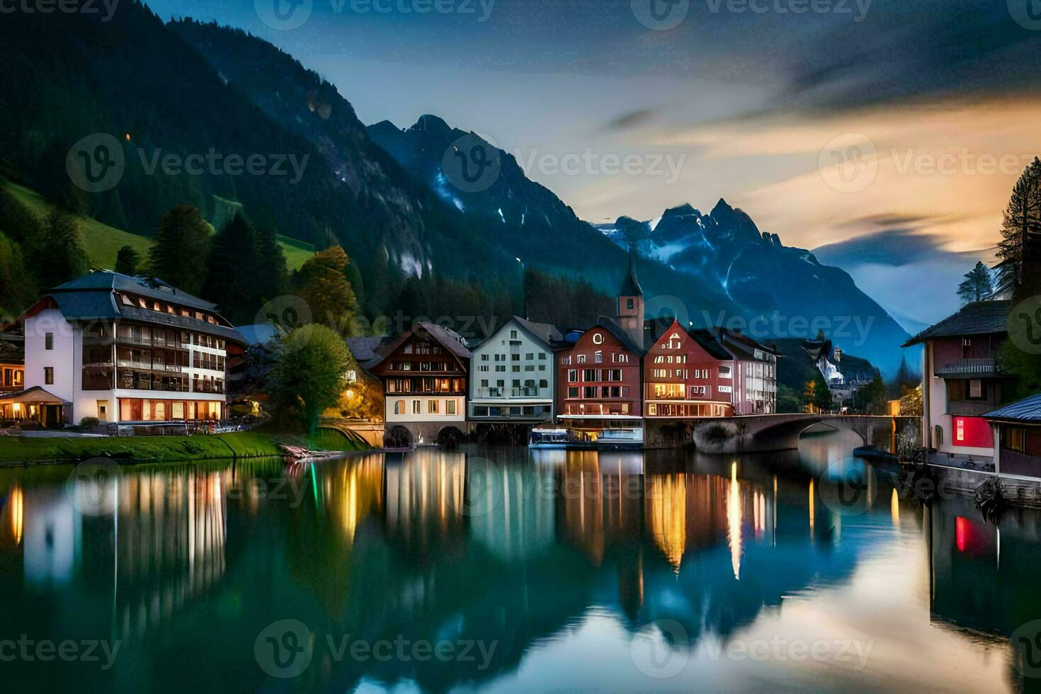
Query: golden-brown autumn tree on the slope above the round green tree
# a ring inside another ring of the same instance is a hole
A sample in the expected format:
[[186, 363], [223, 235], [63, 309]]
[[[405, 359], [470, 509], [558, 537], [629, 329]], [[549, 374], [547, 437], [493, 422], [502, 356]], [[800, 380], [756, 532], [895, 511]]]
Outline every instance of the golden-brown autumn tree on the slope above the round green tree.
[[307, 302], [315, 323], [341, 335], [355, 332], [358, 309], [354, 289], [345, 271], [350, 259], [338, 246], [315, 253], [297, 273], [297, 293]]

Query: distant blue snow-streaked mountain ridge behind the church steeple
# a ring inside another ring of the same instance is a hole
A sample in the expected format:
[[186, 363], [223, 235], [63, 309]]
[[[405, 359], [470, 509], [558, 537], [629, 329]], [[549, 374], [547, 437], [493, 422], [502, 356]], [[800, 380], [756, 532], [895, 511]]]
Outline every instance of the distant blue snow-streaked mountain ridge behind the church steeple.
[[683, 205], [651, 222], [620, 217], [599, 229], [619, 247], [633, 243], [648, 259], [717, 284], [746, 313], [762, 314], [758, 329], [748, 324], [756, 337], [805, 339], [823, 329], [884, 372], [899, 365], [897, 345], [908, 339], [907, 331], [847, 273], [822, 265], [805, 249], [784, 246], [725, 200], [708, 214]]

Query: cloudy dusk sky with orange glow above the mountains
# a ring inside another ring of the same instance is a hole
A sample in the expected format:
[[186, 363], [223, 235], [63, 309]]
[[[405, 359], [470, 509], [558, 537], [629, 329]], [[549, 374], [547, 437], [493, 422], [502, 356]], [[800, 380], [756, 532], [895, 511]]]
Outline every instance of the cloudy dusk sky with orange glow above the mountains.
[[478, 132], [591, 223], [723, 198], [912, 332], [1041, 154], [1038, 0], [148, 4], [272, 42], [365, 123]]

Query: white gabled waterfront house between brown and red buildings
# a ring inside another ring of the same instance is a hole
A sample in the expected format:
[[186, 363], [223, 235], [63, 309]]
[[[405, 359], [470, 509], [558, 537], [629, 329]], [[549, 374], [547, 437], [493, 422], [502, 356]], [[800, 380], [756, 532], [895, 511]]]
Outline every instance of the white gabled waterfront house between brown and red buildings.
[[471, 356], [472, 421], [535, 423], [553, 420], [555, 327], [513, 316]]

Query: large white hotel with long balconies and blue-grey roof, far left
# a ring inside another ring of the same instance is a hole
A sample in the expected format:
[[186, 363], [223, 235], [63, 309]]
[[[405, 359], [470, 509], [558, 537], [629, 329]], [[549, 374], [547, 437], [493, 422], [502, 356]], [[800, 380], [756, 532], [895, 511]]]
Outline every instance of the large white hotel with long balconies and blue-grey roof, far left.
[[215, 309], [110, 271], [49, 289], [4, 327], [23, 335], [25, 388], [0, 395], [0, 408], [45, 427], [222, 419], [229, 354], [244, 343]]

